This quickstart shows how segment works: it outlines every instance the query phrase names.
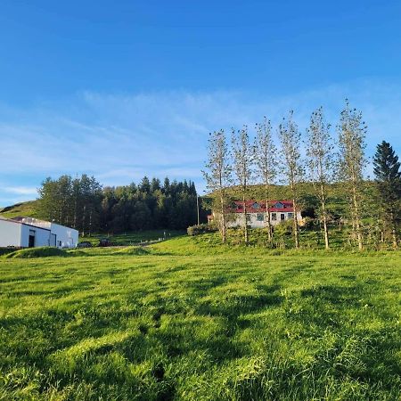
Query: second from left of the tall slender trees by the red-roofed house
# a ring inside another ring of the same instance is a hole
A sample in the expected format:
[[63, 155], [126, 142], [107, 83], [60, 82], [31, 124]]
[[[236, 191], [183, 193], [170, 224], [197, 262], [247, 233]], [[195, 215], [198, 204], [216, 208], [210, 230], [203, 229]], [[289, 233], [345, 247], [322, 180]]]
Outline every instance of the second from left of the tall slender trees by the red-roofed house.
[[233, 143], [233, 170], [241, 188], [242, 197], [242, 216], [243, 216], [243, 233], [245, 244], [248, 244], [248, 224], [247, 224], [247, 197], [248, 185], [252, 175], [252, 159], [253, 152], [250, 145], [250, 136], [248, 135], [248, 127], [244, 126], [241, 130], [232, 130]]

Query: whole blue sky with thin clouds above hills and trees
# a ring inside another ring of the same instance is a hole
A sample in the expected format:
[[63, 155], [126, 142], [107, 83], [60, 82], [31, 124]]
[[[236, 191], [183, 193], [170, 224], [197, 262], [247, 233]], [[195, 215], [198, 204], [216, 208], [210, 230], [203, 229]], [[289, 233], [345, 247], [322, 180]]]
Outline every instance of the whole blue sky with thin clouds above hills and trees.
[[65, 173], [203, 190], [209, 131], [345, 97], [401, 153], [400, 27], [395, 1], [3, 0], [0, 206]]

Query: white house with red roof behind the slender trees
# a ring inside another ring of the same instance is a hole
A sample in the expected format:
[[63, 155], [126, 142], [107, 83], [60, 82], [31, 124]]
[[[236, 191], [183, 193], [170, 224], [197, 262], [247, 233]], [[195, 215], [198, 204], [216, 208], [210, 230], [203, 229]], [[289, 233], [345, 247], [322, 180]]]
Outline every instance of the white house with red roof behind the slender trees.
[[[246, 218], [251, 228], [263, 228], [267, 225], [266, 202], [263, 201], [245, 201]], [[271, 201], [268, 207], [271, 225], [278, 225], [282, 221], [294, 218], [294, 208], [292, 201]], [[243, 202], [233, 202], [232, 208], [228, 210], [227, 227], [238, 227], [243, 225]], [[209, 217], [213, 220], [216, 214]], [[302, 223], [300, 211], [297, 211], [299, 223]]]

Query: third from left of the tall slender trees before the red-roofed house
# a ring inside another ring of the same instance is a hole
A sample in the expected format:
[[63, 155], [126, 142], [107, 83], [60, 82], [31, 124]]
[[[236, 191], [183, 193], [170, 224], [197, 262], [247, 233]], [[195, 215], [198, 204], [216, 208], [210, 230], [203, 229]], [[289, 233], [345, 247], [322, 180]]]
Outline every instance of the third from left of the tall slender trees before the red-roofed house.
[[266, 117], [264, 121], [256, 125], [257, 137], [254, 143], [254, 157], [257, 165], [258, 174], [263, 178], [265, 185], [265, 200], [266, 200], [266, 225], [268, 240], [273, 241], [273, 226], [270, 220], [270, 187], [277, 176], [277, 149], [272, 138], [272, 126], [270, 120]]

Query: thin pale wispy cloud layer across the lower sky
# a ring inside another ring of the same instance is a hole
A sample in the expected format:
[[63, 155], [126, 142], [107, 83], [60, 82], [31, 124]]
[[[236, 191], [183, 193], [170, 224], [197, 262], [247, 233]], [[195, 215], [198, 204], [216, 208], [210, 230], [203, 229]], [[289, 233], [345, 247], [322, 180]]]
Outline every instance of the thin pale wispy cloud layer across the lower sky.
[[[201, 168], [210, 131], [255, 122], [274, 125], [295, 110], [300, 129], [323, 105], [335, 126], [344, 98], [363, 110], [368, 152], [382, 139], [401, 151], [401, 85], [359, 81], [271, 96], [241, 91], [77, 94], [26, 110], [0, 106], [0, 202], [31, 199], [45, 176], [88, 173], [102, 184], [171, 176], [204, 188]], [[15, 195], [15, 196], [13, 196]]]

